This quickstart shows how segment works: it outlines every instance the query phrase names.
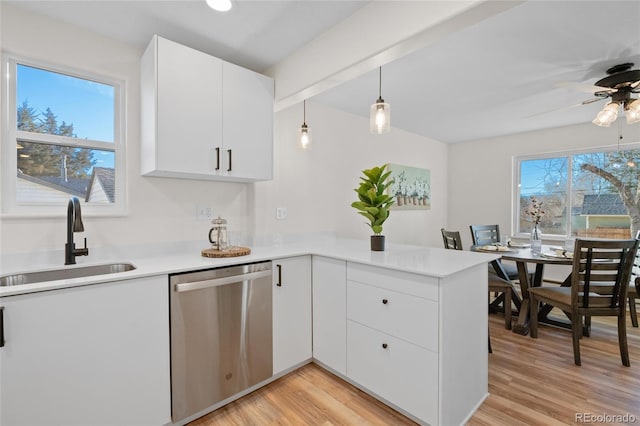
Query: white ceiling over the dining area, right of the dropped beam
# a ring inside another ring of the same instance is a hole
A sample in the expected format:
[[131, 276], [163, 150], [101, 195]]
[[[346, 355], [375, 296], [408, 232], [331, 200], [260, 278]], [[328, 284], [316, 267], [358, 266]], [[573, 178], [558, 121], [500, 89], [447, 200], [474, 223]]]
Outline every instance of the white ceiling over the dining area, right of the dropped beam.
[[[392, 127], [475, 140], [590, 122], [605, 102], [566, 108], [593, 95], [556, 84], [624, 62], [640, 69], [640, 1], [529, 1], [383, 66], [382, 97]], [[314, 99], [367, 116], [377, 97], [375, 70]]]

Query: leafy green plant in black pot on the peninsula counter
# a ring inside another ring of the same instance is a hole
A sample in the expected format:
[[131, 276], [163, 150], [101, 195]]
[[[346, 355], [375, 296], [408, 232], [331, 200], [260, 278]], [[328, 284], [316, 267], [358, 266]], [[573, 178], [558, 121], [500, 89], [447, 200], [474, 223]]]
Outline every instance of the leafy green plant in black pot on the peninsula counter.
[[371, 250], [384, 251], [384, 235], [382, 224], [389, 217], [389, 207], [393, 204], [393, 198], [386, 194], [386, 189], [394, 183], [389, 179], [390, 171], [387, 165], [363, 170], [364, 177], [360, 177], [360, 186], [354, 191], [358, 194], [358, 201], [351, 203], [351, 207], [368, 219], [367, 225], [373, 231], [371, 236]]

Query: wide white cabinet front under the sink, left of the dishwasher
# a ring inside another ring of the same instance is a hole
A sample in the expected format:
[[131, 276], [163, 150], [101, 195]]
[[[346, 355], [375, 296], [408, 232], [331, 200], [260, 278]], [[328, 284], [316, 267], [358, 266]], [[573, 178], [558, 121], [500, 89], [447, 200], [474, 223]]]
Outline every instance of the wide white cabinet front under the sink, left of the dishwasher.
[[3, 297], [0, 424], [171, 421], [167, 276]]

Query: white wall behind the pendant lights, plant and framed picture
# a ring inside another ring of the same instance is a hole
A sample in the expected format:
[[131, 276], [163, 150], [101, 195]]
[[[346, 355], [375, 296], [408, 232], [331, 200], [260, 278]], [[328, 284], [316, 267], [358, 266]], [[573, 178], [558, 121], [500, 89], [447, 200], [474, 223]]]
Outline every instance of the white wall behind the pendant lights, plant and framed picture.
[[[313, 147], [304, 151], [297, 141], [302, 105], [276, 114], [274, 180], [255, 185], [258, 235], [335, 231], [342, 237], [368, 238], [370, 228], [351, 207], [353, 189], [363, 169], [396, 163], [431, 170], [432, 208], [392, 211], [383, 234], [391, 243], [440, 245], [447, 217], [445, 144], [395, 128], [372, 135], [368, 119], [314, 102], [307, 102], [306, 123]], [[286, 221], [276, 220], [276, 207], [288, 209]]]

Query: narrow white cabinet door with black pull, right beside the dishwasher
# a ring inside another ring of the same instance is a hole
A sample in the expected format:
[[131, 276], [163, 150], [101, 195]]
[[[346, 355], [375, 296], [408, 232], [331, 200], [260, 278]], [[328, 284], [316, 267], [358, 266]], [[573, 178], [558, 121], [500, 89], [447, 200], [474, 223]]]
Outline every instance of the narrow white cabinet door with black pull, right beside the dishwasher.
[[273, 261], [273, 374], [311, 358], [311, 256]]

